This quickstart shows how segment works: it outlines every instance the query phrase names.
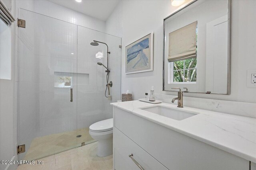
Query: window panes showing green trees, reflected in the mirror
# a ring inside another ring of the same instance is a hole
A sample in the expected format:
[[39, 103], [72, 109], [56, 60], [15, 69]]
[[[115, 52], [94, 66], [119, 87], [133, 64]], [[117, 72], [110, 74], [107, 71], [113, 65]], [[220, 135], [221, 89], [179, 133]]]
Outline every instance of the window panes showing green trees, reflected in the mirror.
[[172, 62], [172, 83], [196, 82], [196, 57]]

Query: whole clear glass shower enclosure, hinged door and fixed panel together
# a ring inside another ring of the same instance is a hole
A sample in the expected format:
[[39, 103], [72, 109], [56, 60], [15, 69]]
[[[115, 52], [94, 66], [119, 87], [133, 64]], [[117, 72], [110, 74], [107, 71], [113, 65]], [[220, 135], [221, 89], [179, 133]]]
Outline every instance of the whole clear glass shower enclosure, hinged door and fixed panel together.
[[[94, 142], [89, 126], [112, 118], [120, 100], [121, 38], [20, 9], [18, 28], [19, 160], [36, 160]], [[112, 100], [105, 97], [108, 44]], [[101, 52], [103, 57], [96, 58]]]

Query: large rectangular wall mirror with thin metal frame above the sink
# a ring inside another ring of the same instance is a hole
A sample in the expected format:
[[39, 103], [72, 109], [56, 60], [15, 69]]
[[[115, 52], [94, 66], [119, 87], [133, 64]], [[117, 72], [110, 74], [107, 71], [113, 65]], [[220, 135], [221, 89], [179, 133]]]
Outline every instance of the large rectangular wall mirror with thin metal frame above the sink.
[[163, 91], [230, 94], [230, 0], [194, 0], [164, 19]]

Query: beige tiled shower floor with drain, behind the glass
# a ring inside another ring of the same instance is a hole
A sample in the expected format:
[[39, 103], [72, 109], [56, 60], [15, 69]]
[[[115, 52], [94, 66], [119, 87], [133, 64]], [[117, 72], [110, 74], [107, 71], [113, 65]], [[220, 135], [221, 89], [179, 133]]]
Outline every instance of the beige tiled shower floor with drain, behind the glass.
[[[77, 135], [82, 135], [82, 137], [76, 137]], [[24, 160], [35, 160], [80, 147], [83, 142], [85, 144], [95, 142], [89, 134], [89, 128], [36, 137], [33, 139]]]

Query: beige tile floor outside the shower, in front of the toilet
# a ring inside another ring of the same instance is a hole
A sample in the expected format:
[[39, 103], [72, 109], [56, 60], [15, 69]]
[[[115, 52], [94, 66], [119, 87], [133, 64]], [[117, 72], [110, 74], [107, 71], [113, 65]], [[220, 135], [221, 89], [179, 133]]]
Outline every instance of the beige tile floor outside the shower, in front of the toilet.
[[112, 170], [113, 156], [98, 157], [98, 142], [39, 159], [44, 164], [18, 166], [17, 170]]

